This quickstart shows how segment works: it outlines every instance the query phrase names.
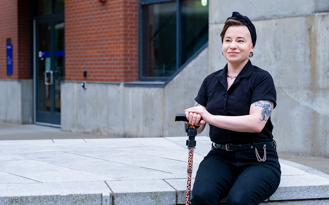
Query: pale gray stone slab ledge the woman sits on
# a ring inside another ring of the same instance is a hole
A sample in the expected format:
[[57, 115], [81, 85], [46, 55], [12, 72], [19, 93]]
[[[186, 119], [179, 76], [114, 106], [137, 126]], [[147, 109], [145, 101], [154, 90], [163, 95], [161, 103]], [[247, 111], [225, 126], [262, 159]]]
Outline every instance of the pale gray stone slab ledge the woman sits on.
[[[211, 147], [209, 137], [196, 140], [192, 177]], [[185, 204], [185, 143], [186, 137], [0, 141], [0, 204]], [[281, 166], [281, 184], [263, 204], [329, 204], [329, 179]]]

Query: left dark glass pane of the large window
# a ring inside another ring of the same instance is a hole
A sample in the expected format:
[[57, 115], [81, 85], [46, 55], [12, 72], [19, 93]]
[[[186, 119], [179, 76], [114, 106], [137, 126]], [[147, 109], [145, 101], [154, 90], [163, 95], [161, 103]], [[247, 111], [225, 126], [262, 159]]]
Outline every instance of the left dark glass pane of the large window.
[[176, 70], [176, 3], [143, 6], [143, 76], [167, 77]]

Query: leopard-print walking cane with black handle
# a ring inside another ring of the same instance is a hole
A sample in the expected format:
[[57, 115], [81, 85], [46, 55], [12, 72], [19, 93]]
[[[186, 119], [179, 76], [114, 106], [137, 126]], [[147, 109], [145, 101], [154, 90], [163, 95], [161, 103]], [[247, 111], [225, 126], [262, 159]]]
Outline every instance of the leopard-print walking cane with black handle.
[[[188, 122], [189, 120], [186, 118], [185, 114], [176, 114], [175, 121], [185, 121]], [[195, 126], [188, 126], [186, 130], [189, 139], [186, 140], [186, 145], [189, 150], [189, 161], [187, 167], [187, 188], [186, 188], [186, 198], [185, 198], [185, 205], [190, 204], [190, 193], [191, 193], [191, 176], [192, 176], [192, 165], [193, 165], [193, 151], [195, 149], [196, 141], [196, 128]]]

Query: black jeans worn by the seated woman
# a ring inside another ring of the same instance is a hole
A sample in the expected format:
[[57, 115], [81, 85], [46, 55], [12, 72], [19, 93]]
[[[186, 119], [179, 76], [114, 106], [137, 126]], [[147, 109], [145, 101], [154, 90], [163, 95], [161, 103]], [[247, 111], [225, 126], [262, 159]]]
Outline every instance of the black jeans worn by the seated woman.
[[[268, 141], [268, 140], [266, 140]], [[257, 149], [263, 158], [264, 150]], [[257, 205], [280, 184], [281, 170], [274, 147], [266, 148], [266, 161], [257, 161], [255, 150], [226, 151], [213, 148], [196, 172], [192, 205]]]

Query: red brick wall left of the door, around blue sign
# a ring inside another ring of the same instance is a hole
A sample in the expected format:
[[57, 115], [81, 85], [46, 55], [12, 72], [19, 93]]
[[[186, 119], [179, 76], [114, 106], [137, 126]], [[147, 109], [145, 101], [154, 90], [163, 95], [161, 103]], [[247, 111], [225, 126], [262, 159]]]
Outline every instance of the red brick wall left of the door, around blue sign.
[[[0, 1], [0, 79], [30, 78], [29, 1]], [[7, 75], [6, 39], [13, 44], [13, 74]]]

